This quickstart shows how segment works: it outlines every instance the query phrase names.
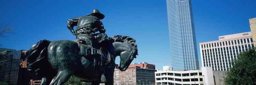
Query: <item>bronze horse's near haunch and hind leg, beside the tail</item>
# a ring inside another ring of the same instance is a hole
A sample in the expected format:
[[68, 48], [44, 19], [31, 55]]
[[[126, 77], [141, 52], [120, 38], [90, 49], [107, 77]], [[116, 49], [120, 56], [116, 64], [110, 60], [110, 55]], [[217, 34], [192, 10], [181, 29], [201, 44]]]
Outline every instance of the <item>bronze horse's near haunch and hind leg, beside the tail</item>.
[[81, 63], [79, 46], [74, 41], [53, 41], [48, 46], [48, 61], [57, 70], [56, 78], [50, 85], [63, 85], [73, 75]]

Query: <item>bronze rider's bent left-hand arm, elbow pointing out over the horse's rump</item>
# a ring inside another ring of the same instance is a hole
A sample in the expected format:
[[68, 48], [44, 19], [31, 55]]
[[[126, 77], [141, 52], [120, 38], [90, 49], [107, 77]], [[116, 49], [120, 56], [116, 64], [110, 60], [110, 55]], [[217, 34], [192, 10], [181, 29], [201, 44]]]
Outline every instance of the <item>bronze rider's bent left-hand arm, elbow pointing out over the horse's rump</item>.
[[80, 19], [80, 17], [76, 17], [76, 18], [67, 20], [67, 27], [73, 33], [73, 35], [76, 35], [73, 27], [77, 26], [77, 22], [79, 19]]

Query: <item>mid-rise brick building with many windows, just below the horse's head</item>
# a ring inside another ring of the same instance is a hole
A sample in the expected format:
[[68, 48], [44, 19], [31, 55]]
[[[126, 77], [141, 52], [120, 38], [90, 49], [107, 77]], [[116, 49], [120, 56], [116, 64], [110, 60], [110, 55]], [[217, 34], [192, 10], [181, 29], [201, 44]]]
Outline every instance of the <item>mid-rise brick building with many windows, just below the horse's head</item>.
[[132, 64], [126, 71], [115, 69], [114, 85], [155, 85], [155, 65]]

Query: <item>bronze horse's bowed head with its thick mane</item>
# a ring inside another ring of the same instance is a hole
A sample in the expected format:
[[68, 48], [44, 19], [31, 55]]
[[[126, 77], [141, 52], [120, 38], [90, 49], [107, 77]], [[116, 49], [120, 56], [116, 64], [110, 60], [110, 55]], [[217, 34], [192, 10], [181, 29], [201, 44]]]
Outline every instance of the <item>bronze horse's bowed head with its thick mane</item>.
[[120, 56], [119, 70], [125, 71], [132, 60], [138, 55], [136, 40], [129, 36], [117, 35], [111, 37], [114, 39], [113, 46], [115, 47], [116, 55]]

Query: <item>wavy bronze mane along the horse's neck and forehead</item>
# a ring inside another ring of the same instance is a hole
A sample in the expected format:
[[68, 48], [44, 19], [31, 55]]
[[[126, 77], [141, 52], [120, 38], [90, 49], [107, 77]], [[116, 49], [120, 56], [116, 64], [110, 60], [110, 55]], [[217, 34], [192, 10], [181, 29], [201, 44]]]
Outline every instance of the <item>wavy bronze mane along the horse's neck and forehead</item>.
[[123, 35], [115, 35], [111, 37], [112, 39], [114, 39], [114, 41], [117, 42], [126, 42], [131, 44], [131, 46], [134, 46], [136, 49], [134, 49], [136, 51], [136, 54], [138, 55], [138, 48], [137, 48], [137, 44], [136, 44], [136, 40], [134, 38], [131, 38], [129, 36], [123, 36]]

